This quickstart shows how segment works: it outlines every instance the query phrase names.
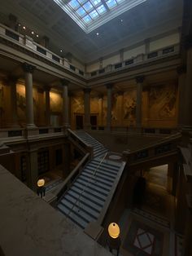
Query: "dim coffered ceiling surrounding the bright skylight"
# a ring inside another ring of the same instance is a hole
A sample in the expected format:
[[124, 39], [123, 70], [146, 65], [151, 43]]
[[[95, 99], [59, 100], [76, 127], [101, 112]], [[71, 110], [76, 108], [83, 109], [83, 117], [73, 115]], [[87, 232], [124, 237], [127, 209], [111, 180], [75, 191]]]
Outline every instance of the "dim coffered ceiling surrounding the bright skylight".
[[181, 27], [182, 2], [148, 0], [85, 33], [53, 0], [0, 0], [0, 22], [8, 24], [11, 13], [18, 22], [39, 34], [36, 40], [45, 35], [50, 38], [51, 51], [58, 55], [71, 52], [82, 63], [89, 63]]

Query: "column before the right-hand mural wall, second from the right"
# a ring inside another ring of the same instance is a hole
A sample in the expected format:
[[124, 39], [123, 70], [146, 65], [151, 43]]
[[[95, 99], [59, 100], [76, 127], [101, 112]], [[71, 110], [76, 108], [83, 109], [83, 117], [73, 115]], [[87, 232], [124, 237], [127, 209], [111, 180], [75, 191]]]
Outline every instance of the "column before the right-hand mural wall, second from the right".
[[142, 85], [144, 76], [136, 77], [137, 82], [137, 98], [136, 98], [136, 127], [142, 127]]

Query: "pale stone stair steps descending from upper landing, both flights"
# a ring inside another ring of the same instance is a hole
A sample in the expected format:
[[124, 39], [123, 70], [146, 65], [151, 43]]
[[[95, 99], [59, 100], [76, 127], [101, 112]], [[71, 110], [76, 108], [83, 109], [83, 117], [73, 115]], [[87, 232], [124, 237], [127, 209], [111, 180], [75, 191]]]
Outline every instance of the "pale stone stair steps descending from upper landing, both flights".
[[99, 157], [104, 157], [107, 149], [83, 131], [76, 132], [76, 135], [94, 146], [94, 158], [77, 176], [71, 188], [61, 196], [57, 207], [84, 229], [88, 223], [98, 219], [113, 183], [116, 179], [120, 179], [119, 172], [124, 169], [124, 162], [110, 160], [101, 162]]

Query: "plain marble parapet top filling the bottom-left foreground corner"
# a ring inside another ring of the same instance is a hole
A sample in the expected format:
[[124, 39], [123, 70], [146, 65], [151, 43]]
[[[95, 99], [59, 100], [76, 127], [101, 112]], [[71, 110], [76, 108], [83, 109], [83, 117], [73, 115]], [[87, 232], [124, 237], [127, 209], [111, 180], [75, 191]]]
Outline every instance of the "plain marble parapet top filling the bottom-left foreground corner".
[[6, 256], [111, 255], [0, 166], [0, 247]]

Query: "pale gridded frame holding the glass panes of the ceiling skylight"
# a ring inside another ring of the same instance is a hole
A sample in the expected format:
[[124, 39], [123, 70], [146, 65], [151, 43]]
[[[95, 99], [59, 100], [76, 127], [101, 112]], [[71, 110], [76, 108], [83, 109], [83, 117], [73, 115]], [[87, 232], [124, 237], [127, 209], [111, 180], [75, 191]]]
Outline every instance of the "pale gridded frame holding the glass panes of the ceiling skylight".
[[[124, 11], [128, 11], [129, 9], [132, 9], [133, 7], [136, 7], [137, 5], [141, 4], [142, 2], [146, 2], [147, 0], [122, 0], [122, 2], [119, 0], [111, 0], [111, 2], [116, 2], [116, 7], [109, 8], [107, 6], [107, 2], [110, 0], [101, 0], [98, 4], [94, 4], [94, 1], [97, 0], [53, 0], [55, 3], [59, 5], [65, 11], [71, 18], [78, 24], [81, 29], [85, 31], [85, 33], [90, 33], [94, 29], [97, 29], [101, 25], [105, 24], [107, 21], [112, 20], [116, 16], [124, 13]], [[69, 2], [77, 2], [78, 7], [73, 8], [72, 5], [69, 4]], [[79, 15], [76, 11], [79, 10], [81, 7], [85, 10], [83, 7], [87, 2], [90, 2], [90, 4], [93, 6], [89, 11], [85, 11], [84, 15]], [[98, 7], [104, 6], [106, 11], [104, 11], [102, 14], [99, 13]], [[97, 11], [98, 16], [96, 18], [92, 18], [89, 13], [92, 11]], [[89, 15], [91, 20], [88, 20], [89, 22], [85, 21], [85, 16]]]

